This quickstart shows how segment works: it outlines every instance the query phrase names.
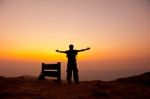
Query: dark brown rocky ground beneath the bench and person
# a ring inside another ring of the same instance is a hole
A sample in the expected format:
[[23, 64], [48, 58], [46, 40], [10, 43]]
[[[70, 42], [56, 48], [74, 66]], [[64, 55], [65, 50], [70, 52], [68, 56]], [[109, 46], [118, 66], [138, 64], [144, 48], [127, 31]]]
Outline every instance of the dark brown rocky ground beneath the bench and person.
[[61, 84], [35, 77], [0, 76], [0, 99], [150, 99], [150, 72], [115, 81]]

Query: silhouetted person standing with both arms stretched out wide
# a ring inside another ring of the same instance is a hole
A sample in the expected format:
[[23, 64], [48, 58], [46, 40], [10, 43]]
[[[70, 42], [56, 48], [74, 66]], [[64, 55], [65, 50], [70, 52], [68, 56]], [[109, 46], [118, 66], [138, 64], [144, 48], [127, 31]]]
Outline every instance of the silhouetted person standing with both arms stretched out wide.
[[67, 54], [68, 63], [67, 63], [67, 81], [68, 83], [71, 83], [72, 78], [72, 72], [75, 83], [79, 83], [79, 76], [78, 76], [78, 68], [76, 63], [76, 56], [78, 52], [89, 50], [90, 48], [81, 49], [81, 50], [74, 50], [74, 46], [71, 44], [69, 45], [69, 50], [66, 51], [59, 51], [56, 50], [56, 52], [65, 53]]

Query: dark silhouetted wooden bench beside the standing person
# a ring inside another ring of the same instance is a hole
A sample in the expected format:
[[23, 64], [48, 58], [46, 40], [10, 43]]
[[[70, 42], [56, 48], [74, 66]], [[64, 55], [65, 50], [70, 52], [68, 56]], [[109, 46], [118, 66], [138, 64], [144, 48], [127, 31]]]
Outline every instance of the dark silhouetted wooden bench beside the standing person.
[[61, 82], [61, 63], [57, 64], [45, 64], [42, 63], [41, 74], [39, 76], [40, 80], [44, 80], [45, 76], [56, 77], [59, 82]]

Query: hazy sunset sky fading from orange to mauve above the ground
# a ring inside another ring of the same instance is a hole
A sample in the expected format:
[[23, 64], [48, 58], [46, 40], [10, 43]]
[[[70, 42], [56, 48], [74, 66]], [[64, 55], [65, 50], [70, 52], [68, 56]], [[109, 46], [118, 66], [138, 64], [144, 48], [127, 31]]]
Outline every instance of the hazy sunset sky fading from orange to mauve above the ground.
[[150, 0], [0, 0], [0, 75], [39, 75], [41, 63], [78, 54], [81, 80], [150, 71]]

